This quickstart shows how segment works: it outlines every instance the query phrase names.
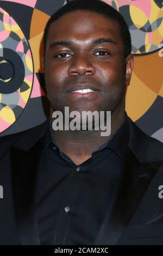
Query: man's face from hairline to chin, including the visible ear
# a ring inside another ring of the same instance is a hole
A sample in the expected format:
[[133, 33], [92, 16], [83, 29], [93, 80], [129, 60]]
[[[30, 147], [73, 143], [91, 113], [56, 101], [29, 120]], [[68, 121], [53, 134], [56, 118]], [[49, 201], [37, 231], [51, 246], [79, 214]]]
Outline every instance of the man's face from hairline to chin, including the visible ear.
[[[80, 10], [60, 17], [49, 27], [43, 60], [53, 110], [64, 112], [65, 106], [79, 113], [124, 110], [132, 61], [131, 56], [124, 58], [116, 21]], [[72, 93], [85, 88], [93, 92]]]

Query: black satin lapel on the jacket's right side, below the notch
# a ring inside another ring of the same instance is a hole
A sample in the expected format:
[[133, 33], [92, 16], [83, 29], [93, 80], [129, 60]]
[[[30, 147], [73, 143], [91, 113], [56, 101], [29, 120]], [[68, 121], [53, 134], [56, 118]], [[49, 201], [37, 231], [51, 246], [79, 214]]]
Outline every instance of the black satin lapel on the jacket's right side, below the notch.
[[140, 163], [128, 149], [115, 196], [93, 245], [115, 245], [118, 242], [161, 163]]

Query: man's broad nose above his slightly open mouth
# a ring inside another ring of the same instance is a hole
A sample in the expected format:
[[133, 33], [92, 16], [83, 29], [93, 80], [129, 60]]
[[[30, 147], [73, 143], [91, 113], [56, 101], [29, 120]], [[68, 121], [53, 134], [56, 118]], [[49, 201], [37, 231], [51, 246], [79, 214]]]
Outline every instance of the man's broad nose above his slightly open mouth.
[[84, 76], [94, 75], [95, 66], [92, 65], [90, 57], [87, 54], [79, 53], [77, 56], [73, 56], [72, 64], [68, 69], [68, 75], [70, 76]]

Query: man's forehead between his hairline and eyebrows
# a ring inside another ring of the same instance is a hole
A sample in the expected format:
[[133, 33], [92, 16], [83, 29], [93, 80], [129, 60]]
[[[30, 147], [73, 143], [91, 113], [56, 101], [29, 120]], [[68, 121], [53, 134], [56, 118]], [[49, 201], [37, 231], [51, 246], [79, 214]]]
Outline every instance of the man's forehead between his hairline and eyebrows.
[[52, 40], [74, 38], [86, 40], [109, 36], [120, 39], [118, 23], [109, 17], [91, 11], [72, 11], [52, 22], [49, 27], [47, 42]]

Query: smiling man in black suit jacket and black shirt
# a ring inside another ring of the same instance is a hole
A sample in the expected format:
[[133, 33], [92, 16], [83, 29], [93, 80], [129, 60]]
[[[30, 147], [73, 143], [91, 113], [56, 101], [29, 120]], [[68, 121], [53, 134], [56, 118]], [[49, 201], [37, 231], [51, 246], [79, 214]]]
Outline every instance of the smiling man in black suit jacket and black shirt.
[[[43, 39], [51, 120], [1, 138], [1, 244], [163, 243], [163, 147], [125, 112], [126, 22], [102, 1], [74, 0], [52, 15]], [[111, 111], [111, 134], [53, 130], [52, 114], [65, 106]]]

